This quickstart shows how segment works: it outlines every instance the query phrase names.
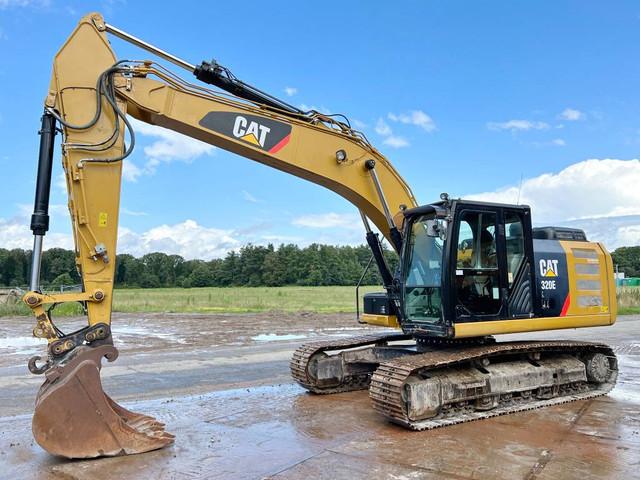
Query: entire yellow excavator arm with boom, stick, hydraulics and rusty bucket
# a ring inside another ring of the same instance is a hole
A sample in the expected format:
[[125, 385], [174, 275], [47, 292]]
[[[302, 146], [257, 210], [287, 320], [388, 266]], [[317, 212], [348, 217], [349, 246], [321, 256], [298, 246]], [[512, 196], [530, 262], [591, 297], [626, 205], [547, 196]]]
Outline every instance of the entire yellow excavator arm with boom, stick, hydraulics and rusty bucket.
[[[108, 32], [227, 93], [187, 83], [151, 61], [118, 61]], [[101, 359], [117, 356], [110, 324], [120, 184], [123, 161], [135, 146], [127, 115], [338, 193], [360, 211], [385, 286], [391, 275], [369, 220], [399, 251], [402, 211], [417, 206], [390, 162], [348, 121], [302, 112], [239, 81], [215, 62], [195, 67], [107, 25], [99, 14], [84, 17], [55, 57], [45, 100], [31, 222], [31, 291], [24, 296], [36, 315], [34, 335], [49, 342], [46, 362], [37, 364], [39, 357], [29, 362], [33, 373], [47, 376], [37, 399], [34, 434], [49, 452], [73, 458], [137, 453], [172, 441], [161, 424], [118, 406], [100, 386]], [[41, 292], [39, 265], [58, 127], [83, 290], [50, 295]], [[86, 327], [65, 334], [52, 322], [50, 306], [64, 302], [85, 305]]]

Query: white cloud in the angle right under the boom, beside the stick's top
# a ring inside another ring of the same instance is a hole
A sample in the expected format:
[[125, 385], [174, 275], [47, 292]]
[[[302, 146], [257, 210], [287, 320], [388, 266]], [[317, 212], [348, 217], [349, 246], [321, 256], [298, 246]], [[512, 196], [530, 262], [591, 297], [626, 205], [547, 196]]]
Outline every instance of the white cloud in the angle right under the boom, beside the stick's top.
[[213, 145], [201, 142], [181, 133], [141, 122], [130, 118], [136, 132], [146, 137], [156, 138], [151, 145], [144, 147], [147, 162], [140, 168], [132, 162], [126, 162], [123, 166], [125, 180], [136, 181], [141, 175], [152, 175], [161, 163], [180, 161], [191, 163], [202, 155], [212, 155], [215, 151]]

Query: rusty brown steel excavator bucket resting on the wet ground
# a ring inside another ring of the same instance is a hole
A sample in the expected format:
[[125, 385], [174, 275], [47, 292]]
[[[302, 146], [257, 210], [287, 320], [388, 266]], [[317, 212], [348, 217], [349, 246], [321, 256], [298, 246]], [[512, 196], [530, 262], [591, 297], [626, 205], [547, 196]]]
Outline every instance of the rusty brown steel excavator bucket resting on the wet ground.
[[65, 365], [47, 371], [36, 398], [33, 436], [53, 455], [112, 457], [157, 450], [174, 436], [153, 417], [130, 412], [102, 390], [102, 357], [114, 361], [111, 345], [80, 347]]

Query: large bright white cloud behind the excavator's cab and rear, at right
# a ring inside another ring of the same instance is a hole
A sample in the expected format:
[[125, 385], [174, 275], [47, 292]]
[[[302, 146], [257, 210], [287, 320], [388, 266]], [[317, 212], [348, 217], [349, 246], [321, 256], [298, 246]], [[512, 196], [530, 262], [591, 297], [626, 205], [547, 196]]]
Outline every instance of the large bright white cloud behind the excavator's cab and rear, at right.
[[[601, 219], [607, 222], [607, 246], [611, 249], [623, 244], [637, 244], [633, 235], [640, 228], [640, 160], [589, 159], [575, 163], [557, 173], [545, 173], [494, 192], [466, 195], [470, 200], [521, 204], [532, 209], [535, 224], [585, 222]], [[638, 216], [636, 224], [615, 226], [615, 218]], [[603, 232], [587, 229], [590, 237]]]

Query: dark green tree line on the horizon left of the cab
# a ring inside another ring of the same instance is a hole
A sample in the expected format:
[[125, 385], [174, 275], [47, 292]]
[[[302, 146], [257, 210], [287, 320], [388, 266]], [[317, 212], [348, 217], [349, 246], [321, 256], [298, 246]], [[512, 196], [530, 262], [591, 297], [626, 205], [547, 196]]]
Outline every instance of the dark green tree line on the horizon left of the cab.
[[[385, 250], [391, 268], [397, 256]], [[116, 258], [115, 284], [123, 288], [159, 287], [276, 287], [283, 285], [355, 285], [371, 257], [369, 247], [312, 244], [247, 245], [226, 257], [185, 260], [180, 255], [148, 253], [136, 258], [120, 254]], [[0, 285], [22, 286], [29, 282], [31, 251], [0, 248]], [[52, 248], [43, 252], [41, 285], [59, 287], [80, 283], [75, 254]], [[379, 285], [380, 274], [371, 264], [363, 285]]]

